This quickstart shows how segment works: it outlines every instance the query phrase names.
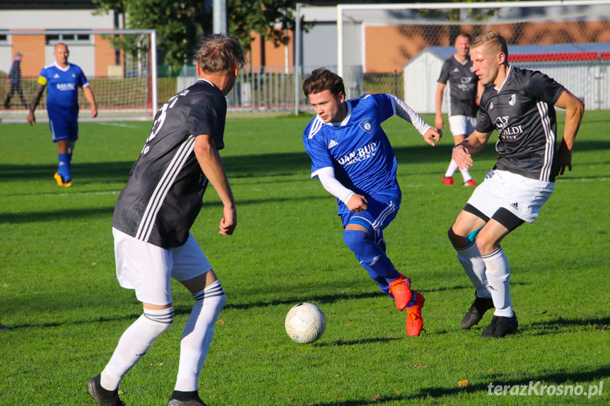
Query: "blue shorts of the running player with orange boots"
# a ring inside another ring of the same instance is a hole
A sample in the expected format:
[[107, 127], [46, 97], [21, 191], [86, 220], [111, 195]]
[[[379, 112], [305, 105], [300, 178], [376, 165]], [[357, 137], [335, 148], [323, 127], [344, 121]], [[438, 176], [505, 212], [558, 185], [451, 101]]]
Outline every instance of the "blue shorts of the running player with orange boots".
[[401, 200], [402, 193], [399, 188], [387, 189], [375, 196], [366, 196], [366, 210], [341, 214], [343, 227], [348, 224], [361, 225], [370, 235], [375, 236], [375, 242], [380, 241], [383, 239], [383, 230], [396, 218]]

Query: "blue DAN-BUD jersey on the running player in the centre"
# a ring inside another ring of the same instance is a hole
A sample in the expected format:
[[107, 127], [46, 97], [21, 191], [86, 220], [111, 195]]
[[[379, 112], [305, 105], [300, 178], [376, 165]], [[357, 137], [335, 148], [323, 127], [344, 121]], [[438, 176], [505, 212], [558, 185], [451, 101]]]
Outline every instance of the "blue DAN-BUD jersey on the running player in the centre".
[[[381, 128], [396, 112], [392, 97], [365, 94], [346, 104], [347, 115], [341, 123], [327, 124], [316, 116], [303, 132], [305, 150], [312, 160], [311, 176], [332, 167], [346, 188], [385, 201], [382, 196], [387, 193], [382, 192], [399, 188], [394, 150]], [[349, 211], [339, 199], [337, 203], [339, 214]]]

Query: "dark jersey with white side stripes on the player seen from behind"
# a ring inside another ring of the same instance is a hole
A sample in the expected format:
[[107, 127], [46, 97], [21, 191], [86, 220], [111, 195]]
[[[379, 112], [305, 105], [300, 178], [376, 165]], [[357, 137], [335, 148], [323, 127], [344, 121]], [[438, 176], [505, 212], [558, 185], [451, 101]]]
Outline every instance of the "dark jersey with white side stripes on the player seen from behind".
[[202, 79], [159, 109], [112, 227], [165, 249], [187, 241], [208, 183], [194, 154], [195, 137], [209, 134], [223, 148], [226, 112], [221, 90]]

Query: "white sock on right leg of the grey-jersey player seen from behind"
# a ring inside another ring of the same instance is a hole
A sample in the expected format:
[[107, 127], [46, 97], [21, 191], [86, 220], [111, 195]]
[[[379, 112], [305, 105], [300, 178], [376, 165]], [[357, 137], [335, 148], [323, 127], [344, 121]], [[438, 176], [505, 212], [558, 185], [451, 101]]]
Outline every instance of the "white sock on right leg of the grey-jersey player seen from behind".
[[180, 365], [174, 388], [182, 392], [197, 390], [199, 372], [208, 355], [214, 334], [214, 323], [227, 300], [218, 280], [193, 296], [195, 304], [182, 333]]

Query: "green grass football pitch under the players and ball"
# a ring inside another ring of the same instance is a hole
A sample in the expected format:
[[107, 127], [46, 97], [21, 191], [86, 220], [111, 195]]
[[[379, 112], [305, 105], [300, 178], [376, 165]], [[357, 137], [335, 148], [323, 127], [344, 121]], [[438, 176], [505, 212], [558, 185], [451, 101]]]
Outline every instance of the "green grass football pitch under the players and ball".
[[[404, 121], [385, 124], [404, 194], [385, 232], [388, 253], [426, 296], [425, 332], [409, 338], [404, 312], [344, 246], [334, 198], [310, 180], [301, 143], [309, 118], [227, 121], [222, 155], [239, 225], [231, 237], [218, 234], [222, 208], [209, 188], [192, 229], [228, 297], [201, 398], [213, 406], [610, 404], [609, 112], [585, 114], [573, 171], [539, 219], [503, 241], [520, 321], [503, 340], [479, 338], [491, 314], [459, 328], [474, 289], [446, 232], [471, 189], [440, 182], [451, 137], [431, 148]], [[149, 126], [82, 123], [74, 186], [64, 189], [52, 179], [48, 125], [0, 124], [0, 321], [11, 327], [0, 331], [0, 405], [93, 405], [88, 378], [141, 314], [115, 278], [110, 220]], [[475, 155], [475, 179], [494, 161], [493, 145]], [[312, 345], [284, 331], [299, 301], [327, 316]], [[128, 406], [168, 400], [192, 306], [180, 284], [174, 305], [174, 326], [122, 382]], [[555, 395], [489, 395], [490, 384], [530, 381]], [[602, 395], [589, 398], [600, 384]], [[568, 386], [582, 394], [557, 395]]]

